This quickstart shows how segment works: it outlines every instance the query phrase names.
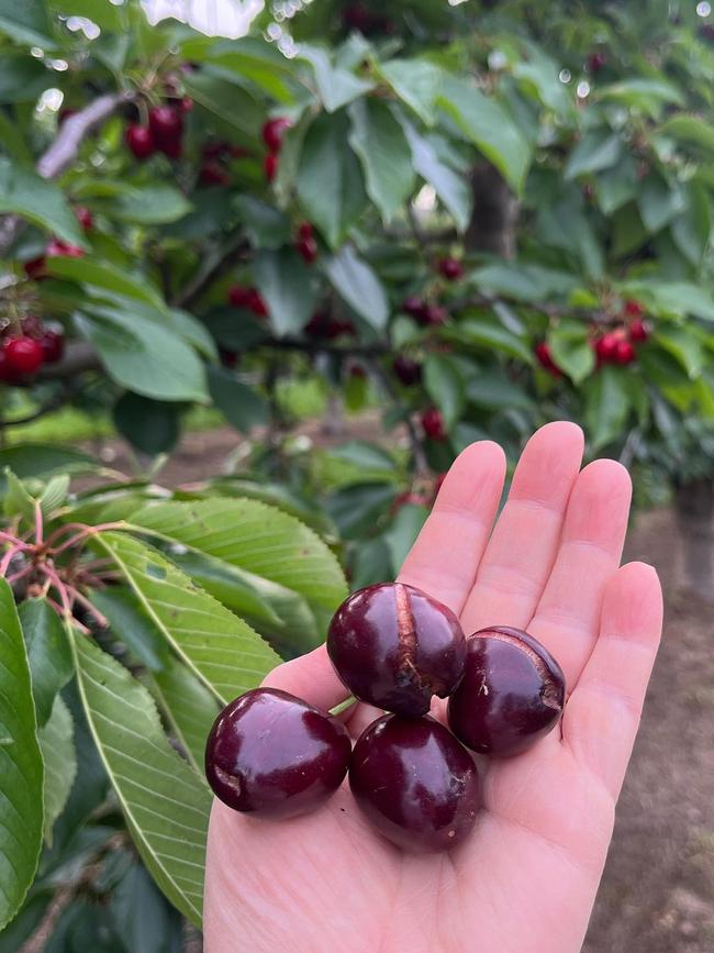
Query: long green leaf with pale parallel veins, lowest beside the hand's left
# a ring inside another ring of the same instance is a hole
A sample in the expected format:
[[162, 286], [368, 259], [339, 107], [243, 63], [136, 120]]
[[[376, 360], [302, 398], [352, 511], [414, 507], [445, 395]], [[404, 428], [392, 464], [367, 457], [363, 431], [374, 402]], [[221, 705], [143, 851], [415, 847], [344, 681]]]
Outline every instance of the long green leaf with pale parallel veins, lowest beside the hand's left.
[[201, 923], [211, 796], [174, 751], [150, 695], [119, 662], [72, 633], [94, 743], [144, 863], [168, 899]]

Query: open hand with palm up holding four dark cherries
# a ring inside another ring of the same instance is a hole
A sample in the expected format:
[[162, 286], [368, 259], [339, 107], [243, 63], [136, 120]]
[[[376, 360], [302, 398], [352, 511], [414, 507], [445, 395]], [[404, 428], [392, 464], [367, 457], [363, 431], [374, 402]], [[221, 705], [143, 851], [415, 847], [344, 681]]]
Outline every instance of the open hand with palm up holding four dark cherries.
[[[581, 457], [573, 424], [539, 430], [494, 527], [503, 453], [471, 445], [400, 576], [457, 612], [467, 635], [503, 624], [543, 642], [567, 677], [561, 730], [518, 757], [479, 761], [484, 807], [449, 853], [401, 853], [365, 822], [346, 785], [282, 823], [215, 802], [207, 953], [580, 950], [661, 629], [654, 569], [618, 568], [627, 473], [607, 459], [580, 470]], [[345, 697], [324, 649], [266, 684], [323, 708]], [[377, 713], [358, 706], [349, 730]]]

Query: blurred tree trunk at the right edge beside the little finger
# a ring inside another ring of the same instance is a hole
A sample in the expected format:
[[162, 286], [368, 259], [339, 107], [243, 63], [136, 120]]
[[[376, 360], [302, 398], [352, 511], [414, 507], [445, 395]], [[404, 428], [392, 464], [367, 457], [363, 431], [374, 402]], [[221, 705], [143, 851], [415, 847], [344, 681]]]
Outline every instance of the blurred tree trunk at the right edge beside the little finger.
[[678, 487], [674, 508], [682, 533], [685, 585], [714, 600], [714, 479]]

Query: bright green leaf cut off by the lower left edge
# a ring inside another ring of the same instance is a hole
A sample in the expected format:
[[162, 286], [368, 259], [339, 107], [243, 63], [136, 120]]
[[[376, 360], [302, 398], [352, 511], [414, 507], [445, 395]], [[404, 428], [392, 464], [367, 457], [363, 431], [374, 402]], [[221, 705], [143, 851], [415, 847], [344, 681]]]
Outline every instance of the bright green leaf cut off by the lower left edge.
[[37, 869], [43, 766], [30, 668], [12, 589], [0, 579], [0, 930], [14, 917]]

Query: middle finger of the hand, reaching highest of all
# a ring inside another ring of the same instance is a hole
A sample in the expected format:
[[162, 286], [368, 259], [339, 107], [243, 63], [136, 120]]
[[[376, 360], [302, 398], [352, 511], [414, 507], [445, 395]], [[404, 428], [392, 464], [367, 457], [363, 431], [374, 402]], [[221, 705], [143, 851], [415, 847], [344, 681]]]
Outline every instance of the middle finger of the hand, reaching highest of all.
[[582, 447], [582, 431], [566, 421], [540, 428], [526, 444], [461, 613], [467, 634], [529, 622], [557, 553]]

